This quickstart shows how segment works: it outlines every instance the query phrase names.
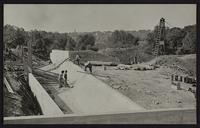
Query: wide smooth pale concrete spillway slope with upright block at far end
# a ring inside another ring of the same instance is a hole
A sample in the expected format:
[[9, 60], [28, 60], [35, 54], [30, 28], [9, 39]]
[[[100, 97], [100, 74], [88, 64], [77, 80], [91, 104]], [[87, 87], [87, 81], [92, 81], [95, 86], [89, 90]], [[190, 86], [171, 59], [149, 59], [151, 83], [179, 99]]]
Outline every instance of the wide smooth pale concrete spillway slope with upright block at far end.
[[[50, 58], [53, 63], [57, 63], [69, 58], [68, 55], [67, 51], [53, 50]], [[144, 110], [69, 60], [51, 72], [60, 73], [62, 70], [68, 70], [69, 83], [73, 84], [74, 88], [60, 91], [58, 96], [74, 113], [100, 114]]]

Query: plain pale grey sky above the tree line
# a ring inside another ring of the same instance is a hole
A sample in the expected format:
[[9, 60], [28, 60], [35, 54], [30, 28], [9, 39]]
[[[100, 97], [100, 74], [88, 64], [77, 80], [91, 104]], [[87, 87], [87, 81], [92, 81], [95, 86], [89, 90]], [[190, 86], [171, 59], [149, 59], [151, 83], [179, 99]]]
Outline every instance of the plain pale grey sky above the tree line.
[[160, 18], [167, 26], [196, 24], [195, 4], [5, 4], [4, 25], [25, 30], [91, 32], [152, 30]]

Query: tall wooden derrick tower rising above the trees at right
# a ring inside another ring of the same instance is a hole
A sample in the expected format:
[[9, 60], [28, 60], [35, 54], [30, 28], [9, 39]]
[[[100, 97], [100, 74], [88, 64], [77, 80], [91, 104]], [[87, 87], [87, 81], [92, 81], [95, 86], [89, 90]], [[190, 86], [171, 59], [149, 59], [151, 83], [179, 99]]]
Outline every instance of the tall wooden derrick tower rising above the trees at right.
[[165, 54], [165, 19], [161, 18], [160, 23], [155, 28], [155, 44], [154, 44], [154, 55]]

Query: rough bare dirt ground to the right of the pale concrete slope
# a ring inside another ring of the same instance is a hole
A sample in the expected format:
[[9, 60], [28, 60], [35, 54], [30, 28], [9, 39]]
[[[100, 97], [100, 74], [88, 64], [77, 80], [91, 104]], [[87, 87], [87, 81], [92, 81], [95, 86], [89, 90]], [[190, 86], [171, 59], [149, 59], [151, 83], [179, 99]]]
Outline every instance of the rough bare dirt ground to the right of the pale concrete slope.
[[[181, 57], [184, 60], [188, 58]], [[180, 59], [178, 58], [178, 60]], [[121, 86], [122, 89], [118, 88], [118, 91], [146, 109], [196, 106], [194, 94], [187, 90], [191, 85], [181, 84], [183, 89], [177, 90], [176, 86], [171, 83], [171, 74], [179, 71], [174, 71], [174, 68], [171, 68], [169, 64], [156, 70], [147, 71], [114, 70], [114, 67], [108, 67], [106, 71], [102, 67], [94, 67], [93, 69], [94, 75], [96, 74], [98, 79], [114, 88]]]

